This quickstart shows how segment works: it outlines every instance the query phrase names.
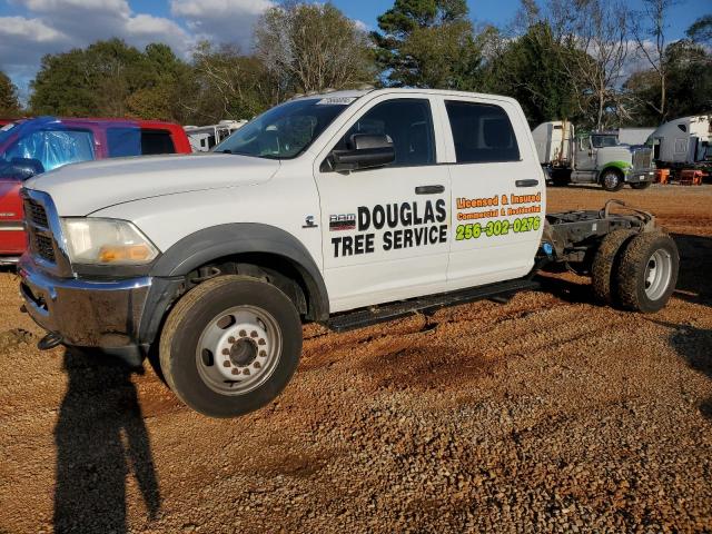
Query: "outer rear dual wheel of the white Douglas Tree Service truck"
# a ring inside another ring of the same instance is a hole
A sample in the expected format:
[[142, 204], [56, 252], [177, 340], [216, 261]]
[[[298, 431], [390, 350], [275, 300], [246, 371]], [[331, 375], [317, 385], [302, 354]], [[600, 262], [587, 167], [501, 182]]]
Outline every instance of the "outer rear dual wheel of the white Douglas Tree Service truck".
[[679, 268], [678, 247], [669, 235], [639, 234], [623, 250], [617, 268], [621, 305], [644, 314], [663, 308], [675, 290]]

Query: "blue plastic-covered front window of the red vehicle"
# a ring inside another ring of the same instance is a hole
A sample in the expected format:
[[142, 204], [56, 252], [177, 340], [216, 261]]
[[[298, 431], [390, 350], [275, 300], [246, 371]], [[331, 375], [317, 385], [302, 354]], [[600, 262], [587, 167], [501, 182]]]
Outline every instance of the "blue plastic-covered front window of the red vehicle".
[[48, 171], [95, 159], [93, 135], [86, 130], [38, 130], [18, 139], [4, 157], [37, 159]]

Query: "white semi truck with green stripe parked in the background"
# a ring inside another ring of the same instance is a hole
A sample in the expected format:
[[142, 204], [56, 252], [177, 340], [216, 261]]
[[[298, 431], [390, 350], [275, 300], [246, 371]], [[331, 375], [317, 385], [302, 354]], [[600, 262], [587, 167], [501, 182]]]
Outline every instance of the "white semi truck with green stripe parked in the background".
[[532, 131], [538, 161], [555, 186], [600, 184], [617, 191], [625, 184], [644, 189], [655, 181], [652, 150], [622, 145], [615, 131], [574, 131], [568, 121], [543, 122]]

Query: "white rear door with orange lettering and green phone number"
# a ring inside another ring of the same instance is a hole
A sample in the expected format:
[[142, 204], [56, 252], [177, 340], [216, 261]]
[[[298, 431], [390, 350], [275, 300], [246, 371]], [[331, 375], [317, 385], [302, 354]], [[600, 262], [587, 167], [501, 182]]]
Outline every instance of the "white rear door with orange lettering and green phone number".
[[453, 233], [448, 289], [526, 275], [544, 226], [545, 182], [520, 106], [444, 97]]

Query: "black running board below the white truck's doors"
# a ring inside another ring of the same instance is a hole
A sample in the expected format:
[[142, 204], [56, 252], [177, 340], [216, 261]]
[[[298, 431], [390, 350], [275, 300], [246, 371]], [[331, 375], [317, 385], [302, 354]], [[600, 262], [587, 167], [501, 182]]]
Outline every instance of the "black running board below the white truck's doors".
[[418, 312], [435, 310], [445, 306], [472, 303], [483, 298], [503, 297], [516, 291], [537, 289], [538, 283], [530, 279], [517, 279], [472, 287], [453, 293], [441, 293], [427, 297], [400, 300], [380, 306], [346, 312], [329, 318], [325, 325], [334, 332], [347, 332], [365, 326], [385, 323], [399, 317], [414, 315]]

